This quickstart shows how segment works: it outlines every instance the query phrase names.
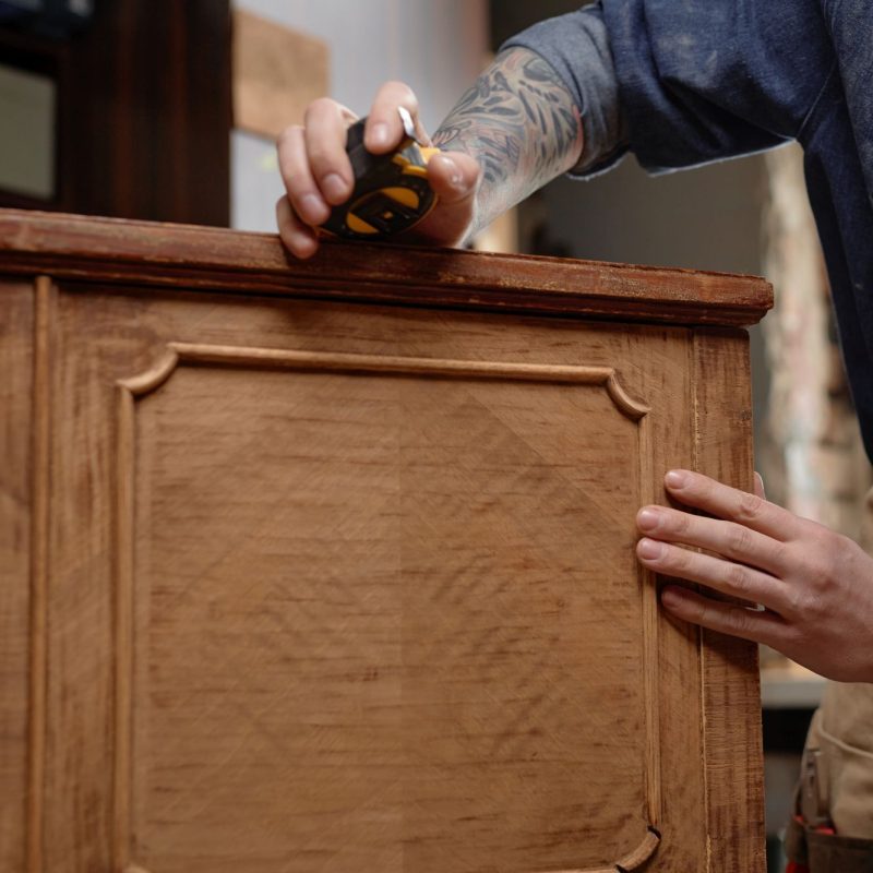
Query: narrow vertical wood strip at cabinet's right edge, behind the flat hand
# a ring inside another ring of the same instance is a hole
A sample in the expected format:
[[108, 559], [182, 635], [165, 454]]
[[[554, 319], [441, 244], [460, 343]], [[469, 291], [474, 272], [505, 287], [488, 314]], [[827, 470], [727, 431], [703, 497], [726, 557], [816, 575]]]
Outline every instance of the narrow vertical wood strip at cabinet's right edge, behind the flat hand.
[[[752, 398], [745, 332], [697, 332], [693, 372], [697, 469], [751, 491]], [[762, 873], [764, 788], [757, 646], [704, 630], [701, 661], [708, 869]]]

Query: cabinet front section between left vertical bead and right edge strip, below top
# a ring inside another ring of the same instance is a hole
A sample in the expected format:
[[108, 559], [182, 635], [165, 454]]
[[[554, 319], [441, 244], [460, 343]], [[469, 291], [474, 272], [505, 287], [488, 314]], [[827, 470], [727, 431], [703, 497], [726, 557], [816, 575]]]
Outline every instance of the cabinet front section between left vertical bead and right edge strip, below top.
[[706, 869], [699, 639], [633, 553], [690, 332], [52, 318], [47, 869]]

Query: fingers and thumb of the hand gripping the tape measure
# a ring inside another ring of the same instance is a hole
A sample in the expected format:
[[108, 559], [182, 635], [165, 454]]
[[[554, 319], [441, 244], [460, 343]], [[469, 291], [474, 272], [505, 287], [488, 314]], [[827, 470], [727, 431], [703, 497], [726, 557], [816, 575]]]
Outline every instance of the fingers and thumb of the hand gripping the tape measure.
[[[385, 154], [403, 141], [398, 106], [409, 110], [419, 139], [429, 142], [415, 94], [400, 82], [390, 82], [380, 88], [367, 120], [363, 144], [371, 153]], [[325, 97], [309, 106], [304, 125], [290, 127], [279, 136], [279, 170], [287, 194], [276, 205], [276, 218], [283, 242], [298, 258], [310, 258], [318, 251], [313, 226], [325, 222], [331, 207], [351, 195], [354, 177], [346, 154], [346, 131], [356, 120], [349, 109]], [[479, 165], [470, 155], [434, 155], [428, 162], [428, 180], [439, 202], [398, 241], [459, 244], [473, 224], [479, 178]]]

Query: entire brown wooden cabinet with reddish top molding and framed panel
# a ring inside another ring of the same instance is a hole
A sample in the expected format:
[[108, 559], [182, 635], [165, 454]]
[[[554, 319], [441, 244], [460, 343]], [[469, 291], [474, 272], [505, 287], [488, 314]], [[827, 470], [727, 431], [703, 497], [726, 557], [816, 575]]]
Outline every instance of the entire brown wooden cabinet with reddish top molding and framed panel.
[[0, 212], [0, 869], [762, 873], [758, 279]]

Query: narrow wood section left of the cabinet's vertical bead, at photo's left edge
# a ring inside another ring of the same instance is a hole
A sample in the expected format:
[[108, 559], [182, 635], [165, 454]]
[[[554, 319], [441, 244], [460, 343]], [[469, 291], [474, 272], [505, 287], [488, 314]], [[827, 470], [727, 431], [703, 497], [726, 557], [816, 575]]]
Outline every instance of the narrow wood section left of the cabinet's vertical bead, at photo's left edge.
[[34, 291], [0, 283], [0, 870], [24, 869]]

